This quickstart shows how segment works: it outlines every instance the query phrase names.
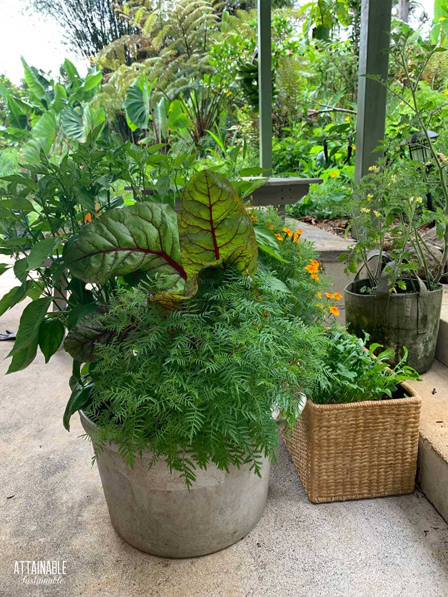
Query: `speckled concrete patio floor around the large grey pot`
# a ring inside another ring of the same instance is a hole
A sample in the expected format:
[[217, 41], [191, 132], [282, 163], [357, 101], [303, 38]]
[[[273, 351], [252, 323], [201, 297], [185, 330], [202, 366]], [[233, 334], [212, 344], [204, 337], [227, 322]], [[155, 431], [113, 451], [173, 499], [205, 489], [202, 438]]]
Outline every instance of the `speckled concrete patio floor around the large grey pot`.
[[[0, 278], [0, 295], [12, 276]], [[24, 303], [0, 318], [17, 329]], [[12, 343], [0, 342], [3, 357]], [[7, 361], [0, 359], [0, 374]], [[70, 359], [1, 377], [0, 595], [5, 597], [446, 597], [448, 526], [419, 491], [311, 504], [280, 445], [261, 521], [234, 546], [170, 560], [113, 530], [91, 447], [62, 426]], [[20, 560], [65, 560], [65, 582], [24, 586]]]

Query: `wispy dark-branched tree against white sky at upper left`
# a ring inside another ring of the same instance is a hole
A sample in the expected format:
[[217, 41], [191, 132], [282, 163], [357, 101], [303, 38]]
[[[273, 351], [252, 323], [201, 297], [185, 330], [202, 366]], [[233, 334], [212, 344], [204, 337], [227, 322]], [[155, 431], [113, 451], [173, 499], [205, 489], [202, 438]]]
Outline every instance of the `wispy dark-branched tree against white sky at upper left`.
[[[115, 11], [113, 0], [32, 0], [33, 7], [46, 16], [53, 17], [62, 27], [67, 41], [82, 56], [90, 59], [106, 45], [123, 36], [137, 33], [137, 27], [121, 19]], [[130, 53], [124, 60], [133, 61]]]

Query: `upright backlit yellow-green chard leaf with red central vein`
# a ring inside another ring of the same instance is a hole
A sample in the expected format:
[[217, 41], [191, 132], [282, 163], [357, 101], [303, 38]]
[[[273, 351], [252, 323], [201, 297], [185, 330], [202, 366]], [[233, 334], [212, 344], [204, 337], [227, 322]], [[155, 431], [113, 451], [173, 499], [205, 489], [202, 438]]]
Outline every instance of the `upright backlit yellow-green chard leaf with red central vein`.
[[202, 170], [191, 177], [183, 190], [178, 223], [182, 264], [188, 276], [229, 253], [241, 272], [256, 269], [257, 241], [251, 217], [222, 174]]

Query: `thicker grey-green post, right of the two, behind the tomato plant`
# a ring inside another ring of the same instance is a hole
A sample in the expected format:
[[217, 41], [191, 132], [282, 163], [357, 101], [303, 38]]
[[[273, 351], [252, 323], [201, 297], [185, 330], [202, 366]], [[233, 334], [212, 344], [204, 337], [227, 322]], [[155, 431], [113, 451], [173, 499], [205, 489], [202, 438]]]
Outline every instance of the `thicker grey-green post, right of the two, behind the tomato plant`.
[[356, 126], [355, 180], [360, 180], [382, 152], [374, 152], [384, 139], [386, 88], [363, 75], [386, 79], [389, 68], [389, 33], [392, 0], [363, 0], [361, 4], [358, 115]]

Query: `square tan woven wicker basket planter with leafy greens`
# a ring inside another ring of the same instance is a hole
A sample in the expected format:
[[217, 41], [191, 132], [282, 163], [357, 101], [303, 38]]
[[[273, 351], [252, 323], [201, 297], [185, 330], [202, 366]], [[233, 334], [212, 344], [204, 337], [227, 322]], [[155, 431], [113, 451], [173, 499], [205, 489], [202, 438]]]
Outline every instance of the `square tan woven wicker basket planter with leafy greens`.
[[314, 404], [283, 439], [309, 500], [357, 500], [412, 493], [421, 399]]

